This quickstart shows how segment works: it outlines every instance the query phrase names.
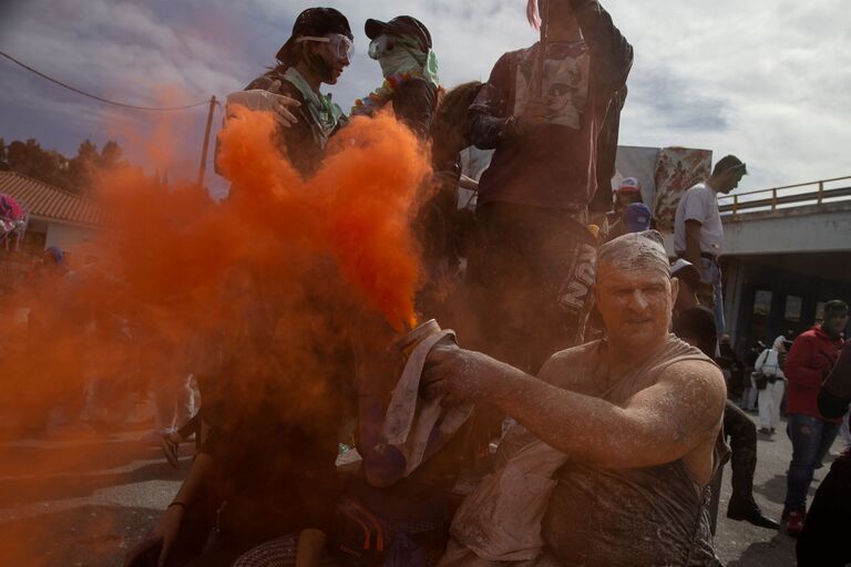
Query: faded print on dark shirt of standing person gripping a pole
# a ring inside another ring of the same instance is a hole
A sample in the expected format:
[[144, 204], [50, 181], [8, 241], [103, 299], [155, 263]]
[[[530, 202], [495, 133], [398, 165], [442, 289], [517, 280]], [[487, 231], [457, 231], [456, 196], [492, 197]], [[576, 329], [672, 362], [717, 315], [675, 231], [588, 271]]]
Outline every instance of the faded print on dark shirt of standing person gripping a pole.
[[[546, 121], [580, 130], [580, 114], [588, 102], [588, 56], [585, 42], [550, 43], [544, 61], [543, 94], [550, 99]], [[514, 90], [514, 116], [523, 114], [534, 91], [537, 50], [530, 49], [517, 64]]]

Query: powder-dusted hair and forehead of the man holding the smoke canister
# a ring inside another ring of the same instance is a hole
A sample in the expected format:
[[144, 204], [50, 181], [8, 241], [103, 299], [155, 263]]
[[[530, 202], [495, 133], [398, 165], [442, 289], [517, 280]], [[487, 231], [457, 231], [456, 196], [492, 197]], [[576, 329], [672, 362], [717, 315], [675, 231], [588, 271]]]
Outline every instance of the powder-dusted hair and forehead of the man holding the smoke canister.
[[670, 278], [668, 255], [656, 230], [629, 233], [609, 240], [597, 254], [597, 281], [608, 269], [623, 272], [650, 269]]

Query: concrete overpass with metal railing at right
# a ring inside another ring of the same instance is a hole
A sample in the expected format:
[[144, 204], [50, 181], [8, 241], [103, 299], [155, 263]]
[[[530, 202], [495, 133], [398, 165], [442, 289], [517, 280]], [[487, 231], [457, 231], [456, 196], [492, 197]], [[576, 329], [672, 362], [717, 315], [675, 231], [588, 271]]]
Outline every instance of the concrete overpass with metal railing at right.
[[739, 351], [851, 300], [851, 177], [719, 198], [727, 332]]

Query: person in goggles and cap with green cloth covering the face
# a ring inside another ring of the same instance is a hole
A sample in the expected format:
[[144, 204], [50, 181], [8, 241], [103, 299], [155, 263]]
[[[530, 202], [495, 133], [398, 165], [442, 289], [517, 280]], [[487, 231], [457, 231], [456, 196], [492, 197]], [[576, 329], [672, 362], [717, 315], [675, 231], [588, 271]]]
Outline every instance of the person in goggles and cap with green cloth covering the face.
[[440, 89], [431, 33], [410, 16], [388, 22], [367, 20], [365, 31], [371, 40], [369, 56], [381, 66], [385, 82], [355, 102], [352, 116], [371, 116], [392, 102], [399, 121], [420, 137], [428, 136]]

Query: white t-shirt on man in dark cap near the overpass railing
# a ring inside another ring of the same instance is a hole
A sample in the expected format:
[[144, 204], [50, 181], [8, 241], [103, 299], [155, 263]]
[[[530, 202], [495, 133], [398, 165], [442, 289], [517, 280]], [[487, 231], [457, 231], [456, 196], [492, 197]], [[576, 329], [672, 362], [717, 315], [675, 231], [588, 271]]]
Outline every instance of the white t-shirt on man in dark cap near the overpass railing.
[[700, 251], [720, 256], [724, 246], [724, 226], [718, 212], [718, 195], [705, 183], [688, 189], [677, 205], [674, 217], [674, 249], [686, 250], [686, 220], [700, 223]]

